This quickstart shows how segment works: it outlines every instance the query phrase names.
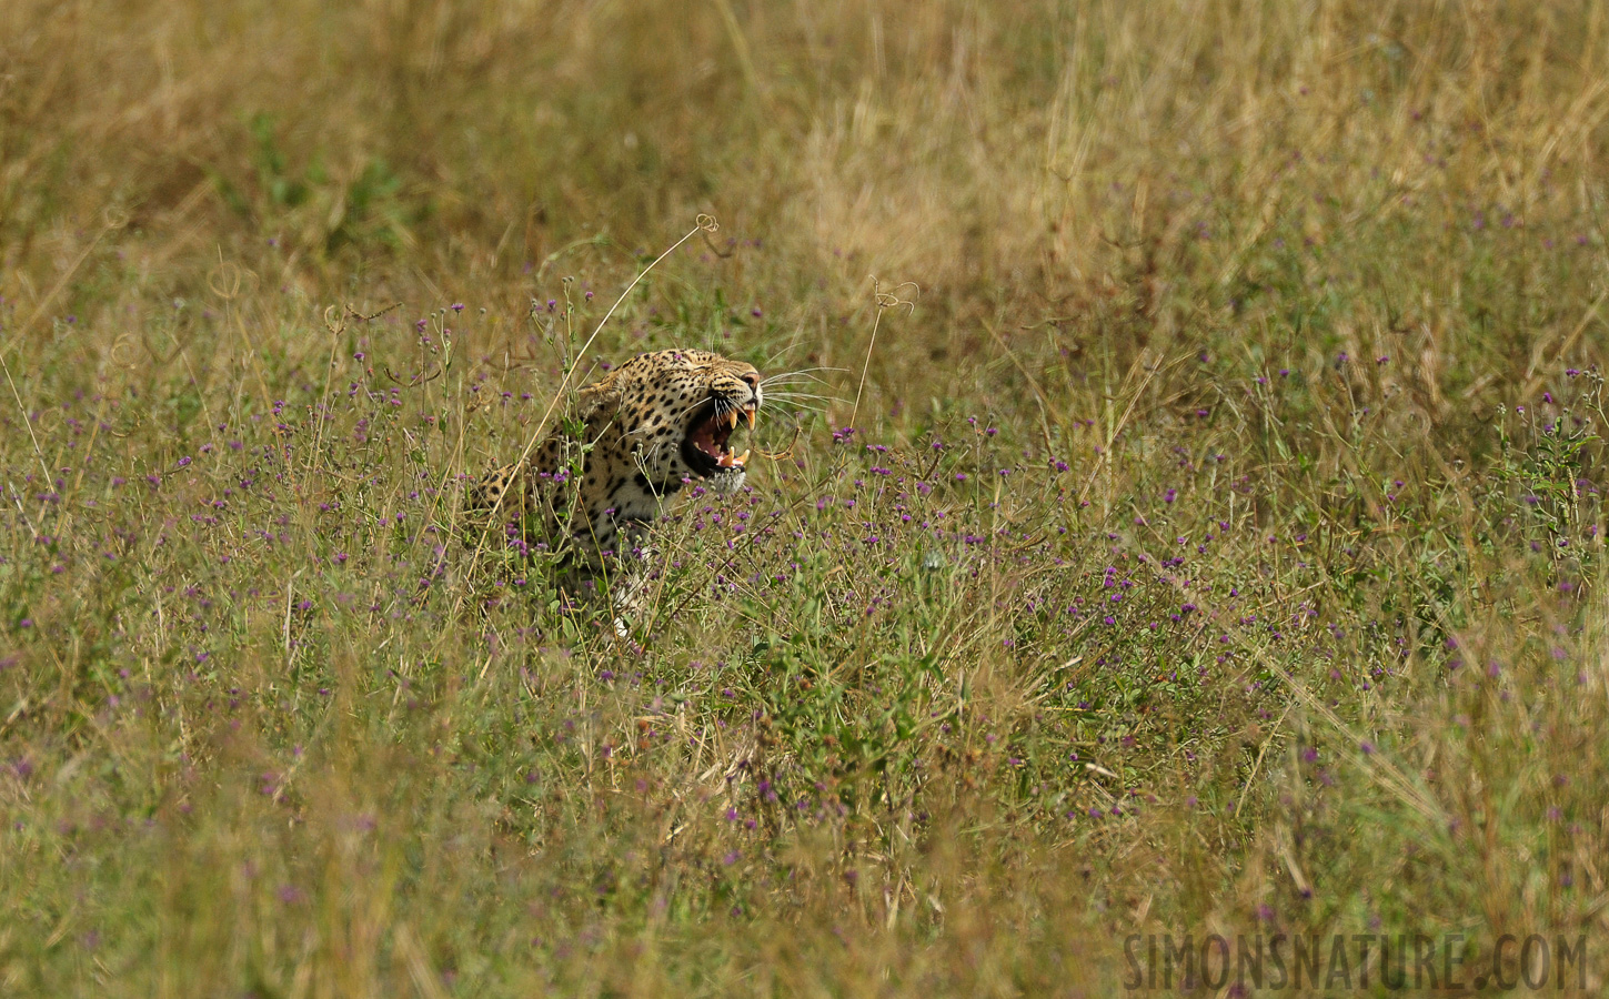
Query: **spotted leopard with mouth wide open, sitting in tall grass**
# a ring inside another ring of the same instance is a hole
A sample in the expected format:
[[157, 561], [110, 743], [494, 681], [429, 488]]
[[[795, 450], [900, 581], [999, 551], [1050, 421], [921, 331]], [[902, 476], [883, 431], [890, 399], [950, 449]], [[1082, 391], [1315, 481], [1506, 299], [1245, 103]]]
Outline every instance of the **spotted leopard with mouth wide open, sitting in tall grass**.
[[753, 433], [763, 401], [750, 364], [695, 349], [637, 354], [582, 388], [528, 457], [473, 481], [463, 510], [502, 528], [512, 547], [553, 553], [566, 589], [623, 578], [619, 606], [640, 586], [648, 529], [677, 494], [742, 491], [751, 450], [737, 454], [732, 438]]

